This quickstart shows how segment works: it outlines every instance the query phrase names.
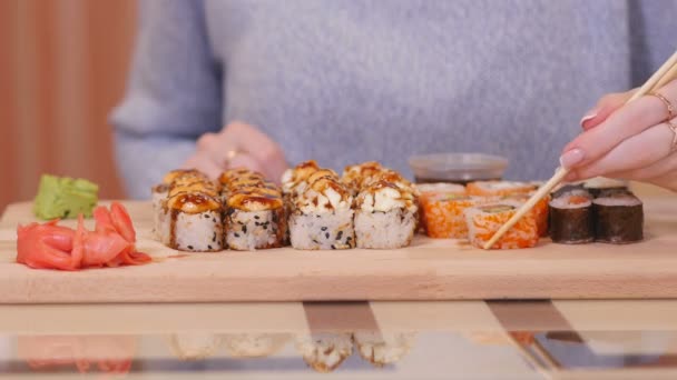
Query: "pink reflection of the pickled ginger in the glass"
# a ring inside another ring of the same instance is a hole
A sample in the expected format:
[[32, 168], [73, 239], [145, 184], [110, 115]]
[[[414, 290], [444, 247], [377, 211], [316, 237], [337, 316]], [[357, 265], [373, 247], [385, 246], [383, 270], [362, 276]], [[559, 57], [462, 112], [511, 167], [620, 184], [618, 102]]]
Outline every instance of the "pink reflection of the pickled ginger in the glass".
[[75, 367], [81, 373], [127, 373], [136, 350], [137, 338], [131, 336], [21, 336], [17, 340], [17, 353], [36, 370]]

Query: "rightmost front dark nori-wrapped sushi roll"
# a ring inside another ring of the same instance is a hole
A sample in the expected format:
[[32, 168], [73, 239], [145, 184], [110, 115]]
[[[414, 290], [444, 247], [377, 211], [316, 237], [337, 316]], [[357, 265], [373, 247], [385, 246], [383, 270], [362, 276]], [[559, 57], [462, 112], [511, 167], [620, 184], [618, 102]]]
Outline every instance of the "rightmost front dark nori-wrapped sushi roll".
[[630, 192], [616, 191], [592, 201], [596, 240], [626, 244], [644, 239], [641, 201]]

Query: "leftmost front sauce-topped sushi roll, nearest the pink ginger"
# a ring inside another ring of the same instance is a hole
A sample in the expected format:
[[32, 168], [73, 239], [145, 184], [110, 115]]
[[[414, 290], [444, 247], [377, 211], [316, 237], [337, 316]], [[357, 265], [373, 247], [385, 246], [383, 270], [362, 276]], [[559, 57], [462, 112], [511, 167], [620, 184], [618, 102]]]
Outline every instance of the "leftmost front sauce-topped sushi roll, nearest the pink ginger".
[[219, 199], [207, 190], [178, 191], [163, 202], [160, 241], [181, 251], [220, 251], [222, 211]]

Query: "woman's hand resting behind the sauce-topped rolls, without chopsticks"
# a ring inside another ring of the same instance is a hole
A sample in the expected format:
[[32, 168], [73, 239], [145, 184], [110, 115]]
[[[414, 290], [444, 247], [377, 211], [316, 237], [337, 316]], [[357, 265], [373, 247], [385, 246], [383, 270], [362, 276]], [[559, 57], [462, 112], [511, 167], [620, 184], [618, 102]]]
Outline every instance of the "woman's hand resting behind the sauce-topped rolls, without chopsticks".
[[218, 133], [203, 134], [195, 153], [184, 163], [184, 168], [198, 169], [214, 179], [226, 169], [241, 167], [279, 182], [287, 163], [275, 141], [256, 127], [237, 121]]

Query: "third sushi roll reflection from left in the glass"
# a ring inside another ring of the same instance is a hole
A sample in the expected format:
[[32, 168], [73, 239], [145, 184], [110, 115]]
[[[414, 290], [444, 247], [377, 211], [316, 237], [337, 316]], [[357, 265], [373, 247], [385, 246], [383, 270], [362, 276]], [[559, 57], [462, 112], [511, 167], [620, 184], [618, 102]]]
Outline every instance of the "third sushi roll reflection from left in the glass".
[[296, 350], [308, 367], [328, 373], [353, 354], [353, 337], [350, 332], [300, 336]]

